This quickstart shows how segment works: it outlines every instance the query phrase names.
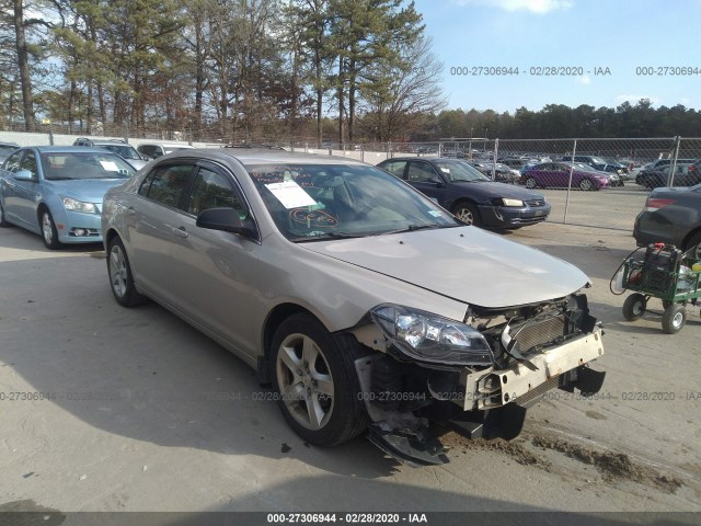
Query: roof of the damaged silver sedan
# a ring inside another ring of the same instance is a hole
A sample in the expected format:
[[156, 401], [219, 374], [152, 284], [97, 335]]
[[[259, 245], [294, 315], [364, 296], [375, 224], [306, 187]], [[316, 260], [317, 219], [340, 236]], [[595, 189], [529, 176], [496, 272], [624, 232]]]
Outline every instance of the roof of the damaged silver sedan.
[[205, 158], [220, 159], [228, 161], [230, 159], [237, 159], [242, 164], [269, 164], [269, 163], [306, 163], [306, 164], [358, 164], [368, 165], [367, 162], [358, 161], [355, 159], [348, 159], [340, 156], [326, 156], [303, 153], [296, 151], [284, 150], [271, 150], [271, 149], [255, 149], [255, 148], [195, 148], [176, 150], [169, 153], [169, 159], [177, 158], [191, 158], [193, 156], [200, 156], [204, 153]]

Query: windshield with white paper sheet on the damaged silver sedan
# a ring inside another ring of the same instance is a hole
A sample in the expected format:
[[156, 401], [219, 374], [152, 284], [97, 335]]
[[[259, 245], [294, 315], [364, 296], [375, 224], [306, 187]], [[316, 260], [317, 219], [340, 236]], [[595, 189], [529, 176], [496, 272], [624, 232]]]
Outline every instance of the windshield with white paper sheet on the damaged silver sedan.
[[461, 225], [375, 167], [251, 164], [246, 170], [277, 228], [292, 241]]

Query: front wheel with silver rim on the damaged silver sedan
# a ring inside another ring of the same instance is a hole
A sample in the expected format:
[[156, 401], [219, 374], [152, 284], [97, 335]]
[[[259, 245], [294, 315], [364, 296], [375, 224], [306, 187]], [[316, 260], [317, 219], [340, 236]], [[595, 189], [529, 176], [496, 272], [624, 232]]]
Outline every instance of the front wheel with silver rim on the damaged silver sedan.
[[278, 407], [310, 444], [342, 444], [368, 425], [354, 365], [359, 352], [350, 338], [332, 335], [309, 313], [287, 318], [273, 336], [271, 378]]

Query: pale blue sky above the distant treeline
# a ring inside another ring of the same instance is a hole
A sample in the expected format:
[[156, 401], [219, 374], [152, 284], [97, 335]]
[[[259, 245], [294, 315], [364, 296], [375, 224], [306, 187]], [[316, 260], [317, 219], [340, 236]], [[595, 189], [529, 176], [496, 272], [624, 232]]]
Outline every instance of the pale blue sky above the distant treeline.
[[[521, 106], [617, 107], [650, 99], [654, 107], [701, 110], [701, 0], [415, 0], [415, 7], [444, 64], [449, 108], [513, 114]], [[512, 75], [495, 75], [497, 67]]]

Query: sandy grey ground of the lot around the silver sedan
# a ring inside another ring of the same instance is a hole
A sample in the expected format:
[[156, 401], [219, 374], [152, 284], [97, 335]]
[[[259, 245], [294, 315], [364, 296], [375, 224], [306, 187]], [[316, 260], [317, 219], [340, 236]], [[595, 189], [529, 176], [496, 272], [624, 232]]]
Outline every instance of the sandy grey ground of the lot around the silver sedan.
[[627, 231], [506, 236], [591, 277], [604, 389], [551, 393], [512, 443], [449, 434], [450, 464], [413, 469], [365, 438], [302, 443], [242, 362], [156, 305], [118, 307], [100, 247], [0, 230], [0, 510], [700, 512], [699, 309], [676, 335], [623, 320]]

